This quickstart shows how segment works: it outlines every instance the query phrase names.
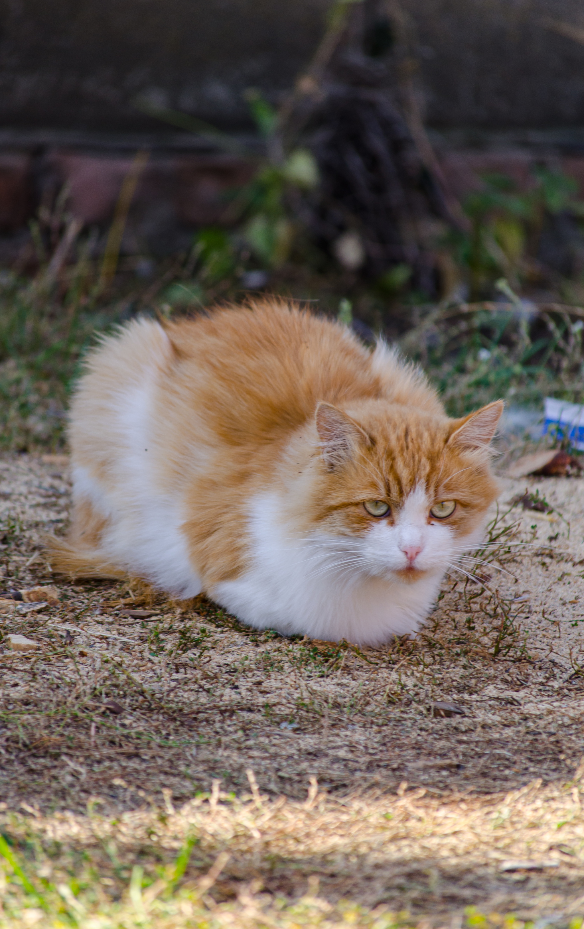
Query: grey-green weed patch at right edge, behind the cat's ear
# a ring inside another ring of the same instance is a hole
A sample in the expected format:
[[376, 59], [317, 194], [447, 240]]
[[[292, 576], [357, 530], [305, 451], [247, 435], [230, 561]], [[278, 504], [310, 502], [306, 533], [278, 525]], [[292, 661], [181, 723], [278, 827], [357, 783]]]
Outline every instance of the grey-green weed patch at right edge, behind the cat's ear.
[[498, 398], [536, 409], [546, 396], [581, 402], [584, 312], [503, 295], [431, 308], [402, 336], [405, 354], [430, 373], [453, 416]]

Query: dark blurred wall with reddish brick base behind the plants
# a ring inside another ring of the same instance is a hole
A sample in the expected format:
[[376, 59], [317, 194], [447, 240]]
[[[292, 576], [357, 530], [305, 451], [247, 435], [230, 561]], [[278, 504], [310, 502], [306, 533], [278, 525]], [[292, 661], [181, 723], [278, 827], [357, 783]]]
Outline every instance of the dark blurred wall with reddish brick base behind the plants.
[[[395, 2], [364, 0], [353, 26], [375, 25]], [[524, 185], [544, 157], [575, 177], [584, 197], [584, 45], [545, 21], [584, 36], [583, 0], [399, 3], [453, 192], [464, 198], [489, 171]], [[145, 96], [245, 134], [253, 130], [246, 88], [277, 103], [311, 59], [331, 4], [0, 0], [0, 260], [59, 190], [86, 227], [107, 229], [139, 148], [150, 155], [128, 220], [129, 252], [170, 254], [193, 228], [228, 222], [226, 203], [253, 164], [133, 101]]]

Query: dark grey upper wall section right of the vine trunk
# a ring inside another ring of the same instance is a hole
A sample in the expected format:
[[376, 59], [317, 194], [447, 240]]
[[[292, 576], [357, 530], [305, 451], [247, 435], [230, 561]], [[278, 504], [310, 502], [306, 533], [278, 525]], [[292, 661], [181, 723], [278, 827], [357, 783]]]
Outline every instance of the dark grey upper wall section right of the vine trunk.
[[418, 27], [431, 124], [551, 127], [584, 124], [582, 0], [404, 0]]

